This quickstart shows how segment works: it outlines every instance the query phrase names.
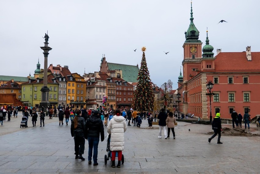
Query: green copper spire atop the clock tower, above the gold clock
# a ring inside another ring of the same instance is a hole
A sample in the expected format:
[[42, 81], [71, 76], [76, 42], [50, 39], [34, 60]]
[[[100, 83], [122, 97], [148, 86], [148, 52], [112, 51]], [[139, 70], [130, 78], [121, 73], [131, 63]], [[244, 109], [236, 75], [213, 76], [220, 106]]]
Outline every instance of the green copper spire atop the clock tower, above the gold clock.
[[191, 9], [190, 9], [190, 26], [187, 31], [185, 31], [185, 42], [201, 42], [199, 39], [200, 32], [195, 27], [193, 23], [193, 12], [192, 12], [192, 2], [191, 2]]

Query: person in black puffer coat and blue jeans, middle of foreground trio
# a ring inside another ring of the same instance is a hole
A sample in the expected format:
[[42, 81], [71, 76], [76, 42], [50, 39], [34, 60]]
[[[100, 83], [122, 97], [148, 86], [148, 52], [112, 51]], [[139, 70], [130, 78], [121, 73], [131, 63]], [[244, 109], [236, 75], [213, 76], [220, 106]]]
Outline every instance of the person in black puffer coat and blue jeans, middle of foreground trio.
[[[104, 126], [103, 122], [100, 119], [99, 111], [94, 111], [93, 115], [87, 119], [84, 136], [88, 140], [88, 164], [91, 164], [92, 160], [92, 151], [93, 151], [93, 165], [98, 165], [97, 155], [98, 155], [98, 143], [99, 135], [101, 136], [101, 142], [104, 141]], [[94, 149], [94, 150], [93, 150]]]

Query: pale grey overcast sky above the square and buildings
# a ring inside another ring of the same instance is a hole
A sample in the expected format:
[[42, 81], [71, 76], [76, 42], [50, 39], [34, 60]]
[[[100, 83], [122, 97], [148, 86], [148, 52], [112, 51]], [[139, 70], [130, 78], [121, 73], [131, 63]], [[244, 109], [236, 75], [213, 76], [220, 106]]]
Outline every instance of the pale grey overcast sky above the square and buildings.
[[[242, 52], [250, 45], [252, 52], [260, 51], [255, 31], [260, 28], [260, 1], [193, 0], [192, 4], [203, 46], [208, 27], [214, 53]], [[220, 20], [228, 23], [218, 24]], [[38, 57], [43, 68], [40, 46], [48, 30], [52, 48], [48, 64], [68, 65], [72, 73], [82, 75], [84, 68], [86, 73], [99, 71], [105, 54], [107, 62], [140, 66], [141, 47], [146, 46], [152, 82], [161, 86], [170, 79], [176, 89], [190, 0], [9, 0], [1, 1], [0, 21], [1, 75], [34, 74]]]

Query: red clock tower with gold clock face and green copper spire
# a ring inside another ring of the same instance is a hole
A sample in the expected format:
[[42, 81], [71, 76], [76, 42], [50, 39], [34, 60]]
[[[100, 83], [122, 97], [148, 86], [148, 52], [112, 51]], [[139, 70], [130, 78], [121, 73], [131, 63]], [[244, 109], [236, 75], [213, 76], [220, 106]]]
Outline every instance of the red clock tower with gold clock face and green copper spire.
[[183, 44], [184, 57], [182, 61], [183, 66], [183, 82], [189, 81], [197, 74], [197, 70], [201, 69], [201, 45], [202, 42], [199, 40], [199, 31], [193, 23], [193, 12], [192, 12], [192, 2], [190, 9], [190, 26], [187, 31], [185, 31], [186, 41]]

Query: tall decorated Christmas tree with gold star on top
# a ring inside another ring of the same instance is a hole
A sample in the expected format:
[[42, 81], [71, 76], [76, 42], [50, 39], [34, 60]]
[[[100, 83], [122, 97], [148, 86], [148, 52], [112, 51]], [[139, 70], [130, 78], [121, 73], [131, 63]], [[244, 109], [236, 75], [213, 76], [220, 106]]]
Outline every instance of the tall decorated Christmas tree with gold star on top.
[[132, 101], [132, 108], [137, 111], [150, 111], [153, 109], [153, 90], [151, 87], [150, 74], [147, 68], [145, 51], [146, 48], [142, 48], [143, 57], [141, 67], [138, 72], [137, 80], [139, 81], [135, 92], [134, 99]]

